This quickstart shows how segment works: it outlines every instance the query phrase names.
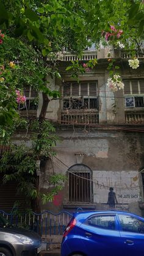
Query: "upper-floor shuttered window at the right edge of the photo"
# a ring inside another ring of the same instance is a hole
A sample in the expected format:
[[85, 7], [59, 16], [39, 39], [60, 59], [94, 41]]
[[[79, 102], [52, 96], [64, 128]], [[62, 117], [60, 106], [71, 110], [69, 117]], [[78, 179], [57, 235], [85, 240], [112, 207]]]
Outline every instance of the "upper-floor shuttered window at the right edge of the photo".
[[144, 79], [124, 80], [126, 108], [144, 108]]

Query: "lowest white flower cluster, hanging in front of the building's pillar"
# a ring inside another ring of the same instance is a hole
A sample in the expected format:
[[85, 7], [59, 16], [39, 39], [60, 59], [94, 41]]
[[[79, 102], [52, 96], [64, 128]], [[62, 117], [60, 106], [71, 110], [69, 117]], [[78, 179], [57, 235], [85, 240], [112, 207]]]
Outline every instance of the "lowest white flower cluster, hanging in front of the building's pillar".
[[107, 86], [113, 91], [117, 92], [118, 89], [123, 89], [124, 84], [121, 82], [121, 77], [119, 75], [113, 75], [113, 78], [107, 79]]

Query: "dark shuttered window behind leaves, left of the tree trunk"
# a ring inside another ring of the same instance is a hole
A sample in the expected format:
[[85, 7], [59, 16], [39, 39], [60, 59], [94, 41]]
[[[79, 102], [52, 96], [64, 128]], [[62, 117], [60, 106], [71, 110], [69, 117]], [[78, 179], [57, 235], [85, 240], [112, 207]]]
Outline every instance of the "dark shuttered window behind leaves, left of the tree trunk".
[[38, 104], [35, 101], [35, 98], [37, 97], [36, 90], [33, 89], [31, 86], [25, 86], [23, 90], [24, 90], [24, 95], [26, 96], [26, 103], [19, 104], [18, 109], [37, 110]]

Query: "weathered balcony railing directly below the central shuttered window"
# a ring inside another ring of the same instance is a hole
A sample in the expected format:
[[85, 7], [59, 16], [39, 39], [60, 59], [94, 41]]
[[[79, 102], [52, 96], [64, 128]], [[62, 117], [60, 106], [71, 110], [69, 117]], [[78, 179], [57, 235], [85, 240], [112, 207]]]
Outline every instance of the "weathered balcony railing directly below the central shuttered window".
[[62, 111], [61, 123], [63, 125], [92, 125], [99, 122], [98, 111]]

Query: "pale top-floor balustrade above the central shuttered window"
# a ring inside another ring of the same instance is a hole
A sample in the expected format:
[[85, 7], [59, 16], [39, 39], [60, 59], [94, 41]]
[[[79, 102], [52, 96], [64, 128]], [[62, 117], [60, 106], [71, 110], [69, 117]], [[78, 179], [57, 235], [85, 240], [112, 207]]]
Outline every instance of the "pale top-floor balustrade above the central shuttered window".
[[97, 51], [84, 51], [82, 57], [77, 57], [75, 54], [64, 52], [60, 59], [63, 61], [97, 59]]

